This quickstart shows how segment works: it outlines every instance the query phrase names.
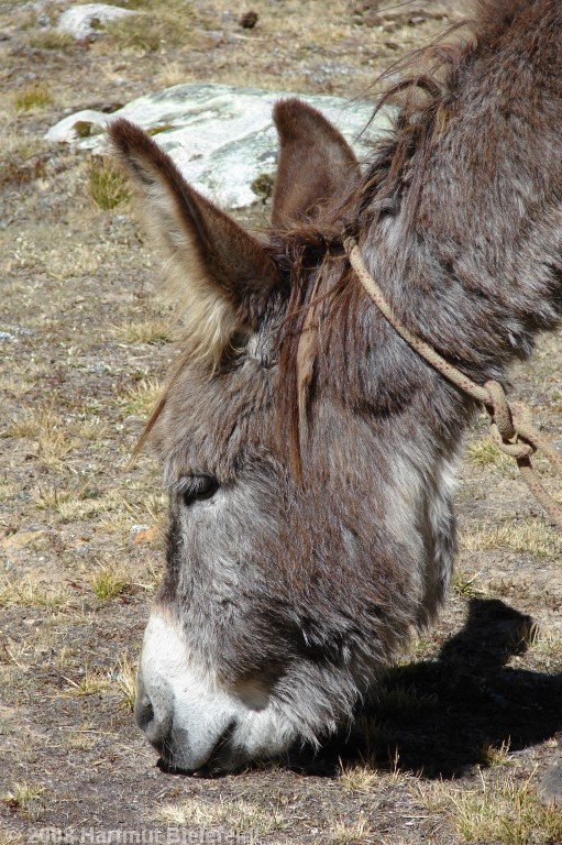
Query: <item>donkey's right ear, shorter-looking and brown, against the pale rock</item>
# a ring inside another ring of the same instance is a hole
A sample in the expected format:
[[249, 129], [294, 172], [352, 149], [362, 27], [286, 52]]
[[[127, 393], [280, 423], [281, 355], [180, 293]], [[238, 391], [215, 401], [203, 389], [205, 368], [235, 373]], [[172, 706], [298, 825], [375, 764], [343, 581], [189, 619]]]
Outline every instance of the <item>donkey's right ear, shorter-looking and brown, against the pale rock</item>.
[[302, 100], [282, 100], [273, 119], [280, 142], [273, 222], [313, 220], [322, 206], [349, 189], [359, 162], [335, 127]]

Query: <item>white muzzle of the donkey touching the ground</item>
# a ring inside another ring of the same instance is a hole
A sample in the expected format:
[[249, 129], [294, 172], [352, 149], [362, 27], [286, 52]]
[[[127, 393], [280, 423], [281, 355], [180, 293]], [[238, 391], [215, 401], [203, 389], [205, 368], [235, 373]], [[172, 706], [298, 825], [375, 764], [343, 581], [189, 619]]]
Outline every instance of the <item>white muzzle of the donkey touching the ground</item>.
[[[328, 698], [332, 705], [356, 698], [345, 672], [338, 678], [332, 669], [326, 684], [316, 670], [289, 670], [275, 692], [257, 681], [225, 689], [190, 660], [180, 626], [166, 611], [156, 611], [144, 635], [135, 718], [164, 768], [187, 773], [233, 770], [278, 757], [297, 743], [316, 748], [318, 735], [327, 727], [334, 731], [343, 717], [333, 706], [327, 714]], [[338, 681], [340, 696], [329, 689]]]

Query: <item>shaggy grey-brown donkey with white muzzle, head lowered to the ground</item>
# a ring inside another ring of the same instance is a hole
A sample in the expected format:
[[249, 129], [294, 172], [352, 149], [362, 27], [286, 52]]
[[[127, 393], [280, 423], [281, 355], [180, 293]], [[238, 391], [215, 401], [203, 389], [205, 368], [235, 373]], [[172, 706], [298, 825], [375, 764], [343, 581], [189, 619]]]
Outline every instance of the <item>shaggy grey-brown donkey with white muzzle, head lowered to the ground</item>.
[[474, 403], [373, 307], [344, 235], [478, 383], [562, 318], [562, 6], [481, 0], [471, 25], [383, 98], [401, 99], [363, 175], [319, 112], [276, 106], [265, 243], [110, 127], [186, 321], [145, 431], [169, 528], [136, 721], [168, 767], [318, 746], [447, 594]]

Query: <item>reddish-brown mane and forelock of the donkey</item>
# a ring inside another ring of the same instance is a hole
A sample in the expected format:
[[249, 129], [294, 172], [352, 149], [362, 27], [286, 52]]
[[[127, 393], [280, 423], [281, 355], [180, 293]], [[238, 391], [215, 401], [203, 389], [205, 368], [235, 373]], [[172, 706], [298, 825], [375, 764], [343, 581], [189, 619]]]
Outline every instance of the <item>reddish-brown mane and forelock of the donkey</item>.
[[[310, 339], [313, 323], [321, 322], [324, 341], [333, 339], [331, 365], [338, 367], [357, 355], [362, 292], [345, 265], [343, 241], [376, 224], [385, 213], [401, 211], [404, 233], [416, 224], [426, 173], [460, 85], [475, 61], [502, 48], [503, 37], [517, 18], [537, 0], [474, 0], [472, 17], [448, 28], [434, 42], [410, 53], [385, 70], [398, 81], [379, 96], [373, 118], [393, 107], [386, 138], [374, 144], [373, 161], [346, 197], [327, 208], [313, 222], [271, 233], [271, 251], [290, 275], [290, 298], [280, 332], [279, 424], [286, 426], [293, 471], [302, 479], [301, 436], [306, 428], [308, 395], [313, 383], [318, 348]], [[447, 41], [465, 30], [464, 37]], [[407, 260], [407, 239], [397, 244], [398, 265]], [[330, 267], [339, 272], [331, 272]], [[316, 272], [315, 272], [316, 271]], [[322, 281], [333, 283], [323, 289]], [[311, 317], [311, 314], [315, 317]], [[339, 344], [337, 337], [339, 336]], [[323, 344], [326, 349], [326, 343]], [[286, 438], [284, 438], [286, 439]]]

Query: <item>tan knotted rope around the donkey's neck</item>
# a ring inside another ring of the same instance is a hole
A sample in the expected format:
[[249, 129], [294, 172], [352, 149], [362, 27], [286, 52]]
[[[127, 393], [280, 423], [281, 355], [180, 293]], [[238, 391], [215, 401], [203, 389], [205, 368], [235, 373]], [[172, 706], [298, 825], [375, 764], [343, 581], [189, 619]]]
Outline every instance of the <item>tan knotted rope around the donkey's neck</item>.
[[531, 457], [540, 449], [552, 467], [562, 474], [562, 456], [535, 428], [530, 409], [520, 404], [511, 406], [499, 382], [488, 381], [484, 385], [476, 384], [476, 382], [473, 382], [467, 375], [450, 364], [449, 361], [441, 358], [433, 347], [430, 347], [429, 343], [426, 343], [425, 340], [407, 329], [396, 317], [393, 307], [386, 300], [383, 292], [366, 268], [361, 251], [353, 238], [346, 239], [343, 245], [351, 266], [370, 298], [403, 340], [433, 370], [441, 373], [462, 393], [484, 405], [491, 419], [492, 439], [505, 454], [515, 459], [521, 478], [549, 515], [552, 525], [562, 534], [562, 507], [554, 502], [550, 493], [544, 489], [531, 463]]

